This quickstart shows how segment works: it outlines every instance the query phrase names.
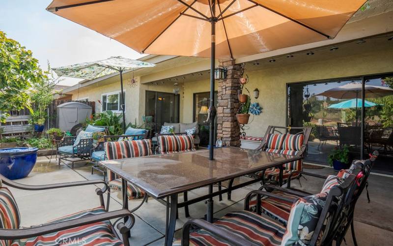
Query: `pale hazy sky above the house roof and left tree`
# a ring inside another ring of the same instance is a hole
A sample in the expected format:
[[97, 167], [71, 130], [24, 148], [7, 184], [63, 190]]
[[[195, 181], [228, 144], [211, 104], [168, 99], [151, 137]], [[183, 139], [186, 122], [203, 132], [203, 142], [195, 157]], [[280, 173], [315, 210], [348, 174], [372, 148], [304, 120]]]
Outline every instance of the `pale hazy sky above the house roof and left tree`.
[[[102, 60], [111, 56], [138, 59], [143, 55], [100, 33], [45, 10], [52, 0], [0, 0], [0, 31], [15, 39], [38, 59], [43, 70]], [[65, 78], [59, 84], [74, 85]]]

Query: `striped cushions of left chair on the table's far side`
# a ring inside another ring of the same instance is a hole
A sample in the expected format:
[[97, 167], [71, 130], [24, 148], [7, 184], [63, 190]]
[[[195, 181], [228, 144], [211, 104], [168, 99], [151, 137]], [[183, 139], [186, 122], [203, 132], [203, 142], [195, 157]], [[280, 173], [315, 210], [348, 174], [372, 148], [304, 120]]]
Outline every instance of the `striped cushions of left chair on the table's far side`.
[[[105, 142], [105, 155], [107, 160], [134, 158], [153, 154], [151, 151], [151, 140], [132, 140]], [[122, 180], [119, 176], [107, 169], [108, 184], [112, 190], [121, 192], [123, 189]], [[127, 198], [129, 200], [141, 199], [145, 197], [144, 190], [135, 184], [127, 182]]]

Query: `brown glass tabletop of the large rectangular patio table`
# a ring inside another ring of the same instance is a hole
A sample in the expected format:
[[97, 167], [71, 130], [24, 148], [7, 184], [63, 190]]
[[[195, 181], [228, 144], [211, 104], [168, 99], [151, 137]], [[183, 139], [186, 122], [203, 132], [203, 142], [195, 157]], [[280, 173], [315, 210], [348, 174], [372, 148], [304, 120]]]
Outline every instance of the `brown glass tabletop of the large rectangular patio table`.
[[235, 147], [218, 148], [214, 155], [215, 159], [209, 160], [209, 151], [200, 150], [100, 163], [150, 196], [161, 199], [302, 158]]

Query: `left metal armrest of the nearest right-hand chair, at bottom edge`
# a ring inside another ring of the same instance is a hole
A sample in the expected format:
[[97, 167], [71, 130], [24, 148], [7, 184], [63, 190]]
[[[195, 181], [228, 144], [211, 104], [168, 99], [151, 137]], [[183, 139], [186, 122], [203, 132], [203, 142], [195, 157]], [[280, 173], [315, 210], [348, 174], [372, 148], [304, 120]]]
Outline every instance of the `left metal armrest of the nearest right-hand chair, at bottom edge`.
[[230, 245], [235, 246], [257, 246], [257, 244], [246, 240], [228, 230], [225, 230], [221, 227], [218, 227], [214, 224], [211, 224], [205, 220], [199, 218], [193, 218], [188, 220], [182, 228], [182, 237], [181, 237], [181, 245], [182, 246], [189, 246], [190, 245], [190, 227], [194, 225], [199, 228], [202, 228], [217, 237], [225, 239], [230, 243]]

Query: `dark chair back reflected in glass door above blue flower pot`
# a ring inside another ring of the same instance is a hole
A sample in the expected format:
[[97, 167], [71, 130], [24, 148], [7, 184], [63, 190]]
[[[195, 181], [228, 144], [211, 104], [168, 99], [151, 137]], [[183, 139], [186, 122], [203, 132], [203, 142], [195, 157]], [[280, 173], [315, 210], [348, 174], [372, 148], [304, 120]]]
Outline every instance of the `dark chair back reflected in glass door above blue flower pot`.
[[360, 123], [341, 123], [337, 122], [337, 133], [339, 146], [360, 146], [360, 133], [361, 126]]

